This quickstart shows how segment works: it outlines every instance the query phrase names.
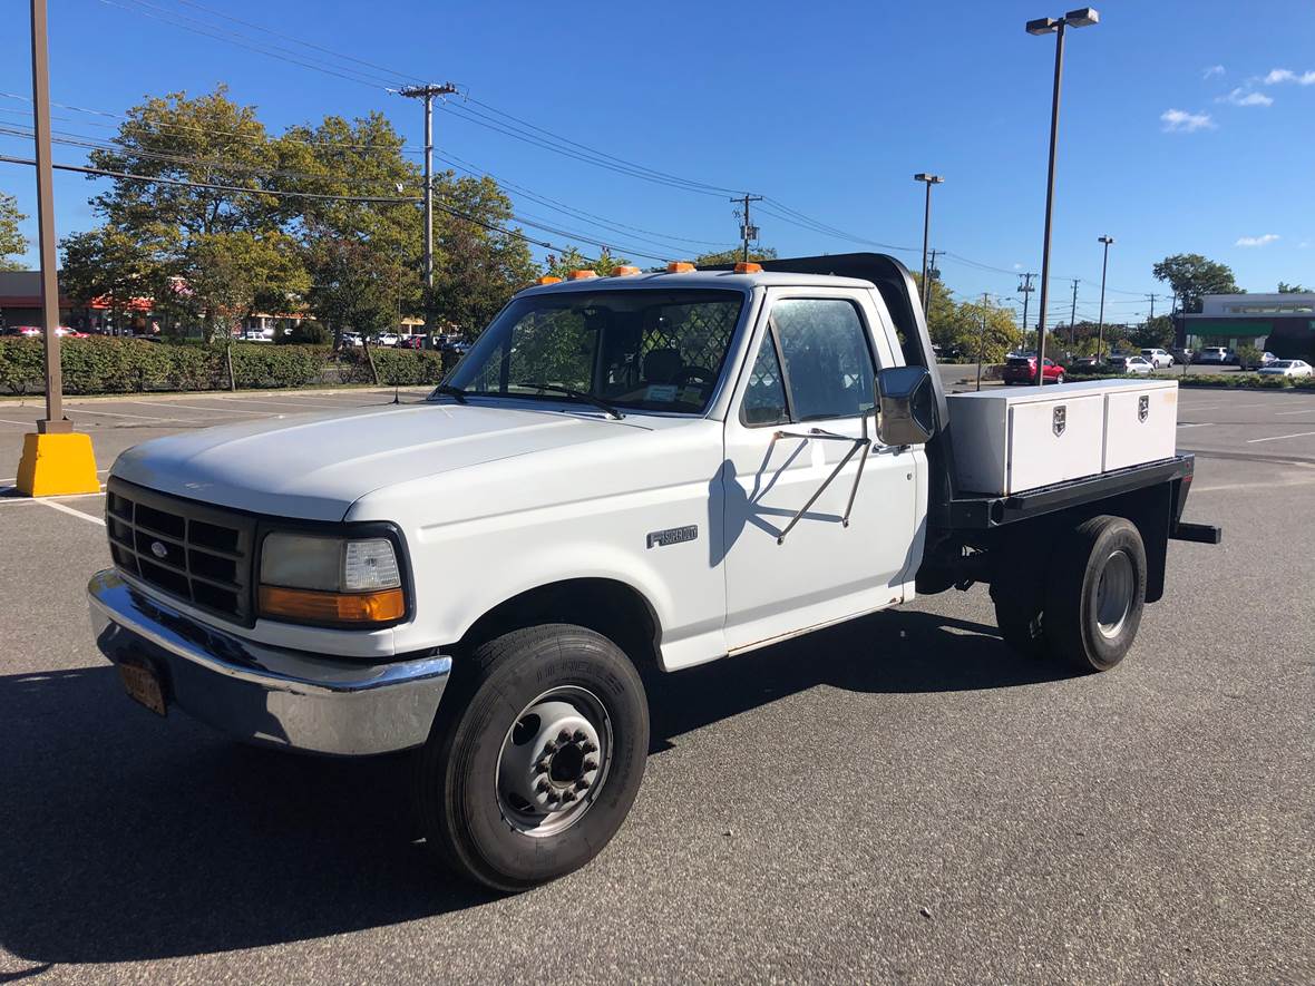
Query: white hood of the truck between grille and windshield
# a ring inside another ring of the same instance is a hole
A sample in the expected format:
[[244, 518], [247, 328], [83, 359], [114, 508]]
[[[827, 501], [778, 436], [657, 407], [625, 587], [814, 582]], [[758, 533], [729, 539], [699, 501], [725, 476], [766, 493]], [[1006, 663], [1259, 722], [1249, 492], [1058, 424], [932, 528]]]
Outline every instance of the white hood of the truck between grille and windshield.
[[371, 490], [643, 427], [586, 413], [425, 404], [296, 414], [158, 438], [110, 473], [276, 517], [341, 521]]

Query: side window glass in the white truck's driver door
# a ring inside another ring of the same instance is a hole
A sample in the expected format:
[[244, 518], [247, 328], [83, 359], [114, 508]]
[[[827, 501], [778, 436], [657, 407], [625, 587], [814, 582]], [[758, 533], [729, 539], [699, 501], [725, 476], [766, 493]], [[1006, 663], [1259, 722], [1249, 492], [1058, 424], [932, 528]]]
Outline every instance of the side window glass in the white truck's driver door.
[[778, 301], [769, 325], [744, 393], [746, 425], [856, 418], [872, 411], [876, 365], [852, 302]]

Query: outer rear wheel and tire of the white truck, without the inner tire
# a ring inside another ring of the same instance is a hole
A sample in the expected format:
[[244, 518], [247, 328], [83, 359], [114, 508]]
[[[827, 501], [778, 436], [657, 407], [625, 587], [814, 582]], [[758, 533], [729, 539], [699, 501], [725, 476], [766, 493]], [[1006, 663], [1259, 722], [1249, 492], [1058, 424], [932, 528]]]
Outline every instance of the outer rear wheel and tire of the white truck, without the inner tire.
[[1122, 517], [1080, 523], [1052, 556], [1045, 593], [1051, 652], [1081, 672], [1110, 670], [1132, 647], [1145, 606], [1147, 555]]

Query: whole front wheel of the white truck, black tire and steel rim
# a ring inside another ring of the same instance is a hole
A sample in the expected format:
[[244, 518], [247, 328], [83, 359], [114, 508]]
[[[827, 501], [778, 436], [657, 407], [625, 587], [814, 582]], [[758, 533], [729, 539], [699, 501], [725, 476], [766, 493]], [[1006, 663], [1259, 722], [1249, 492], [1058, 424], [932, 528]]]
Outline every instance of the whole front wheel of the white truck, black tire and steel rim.
[[648, 705], [635, 665], [601, 634], [555, 623], [476, 647], [455, 674], [417, 759], [430, 851], [509, 893], [584, 866], [643, 778]]

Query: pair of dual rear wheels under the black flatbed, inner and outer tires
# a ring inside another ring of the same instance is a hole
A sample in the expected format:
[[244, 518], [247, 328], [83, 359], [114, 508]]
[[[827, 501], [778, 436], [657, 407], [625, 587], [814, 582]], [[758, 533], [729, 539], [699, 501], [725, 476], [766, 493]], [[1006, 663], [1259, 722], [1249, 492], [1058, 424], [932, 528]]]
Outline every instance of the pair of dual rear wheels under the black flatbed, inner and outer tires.
[[1027, 656], [1053, 656], [1076, 670], [1110, 670], [1141, 624], [1147, 556], [1123, 517], [1084, 521], [1055, 547], [1040, 586], [992, 585], [1001, 636]]

